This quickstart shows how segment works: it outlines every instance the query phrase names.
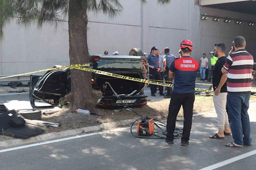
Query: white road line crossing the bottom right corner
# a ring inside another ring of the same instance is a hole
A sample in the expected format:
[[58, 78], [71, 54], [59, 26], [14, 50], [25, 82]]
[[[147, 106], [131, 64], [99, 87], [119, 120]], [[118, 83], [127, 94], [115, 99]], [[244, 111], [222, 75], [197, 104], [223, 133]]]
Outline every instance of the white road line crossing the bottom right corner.
[[242, 154], [242, 155], [236, 156], [236, 157], [234, 157], [234, 158], [230, 158], [230, 159], [228, 159], [228, 160], [224, 160], [224, 161], [222, 161], [222, 162], [219, 162], [219, 163], [217, 163], [217, 164], [214, 164], [214, 165], [211, 165], [211, 166], [205, 167], [205, 168], [203, 168], [203, 169], [199, 169], [199, 170], [213, 170], [213, 169], [219, 168], [219, 167], [221, 167], [221, 166], [228, 165], [228, 164], [230, 164], [230, 163], [232, 163], [232, 162], [236, 162], [236, 161], [238, 161], [238, 160], [240, 160], [240, 159], [244, 159], [244, 158], [246, 158], [246, 157], [252, 156], [252, 155], [254, 155], [254, 154], [256, 154], [256, 150], [251, 151], [251, 152], [248, 152], [248, 153], [244, 153], [244, 154]]

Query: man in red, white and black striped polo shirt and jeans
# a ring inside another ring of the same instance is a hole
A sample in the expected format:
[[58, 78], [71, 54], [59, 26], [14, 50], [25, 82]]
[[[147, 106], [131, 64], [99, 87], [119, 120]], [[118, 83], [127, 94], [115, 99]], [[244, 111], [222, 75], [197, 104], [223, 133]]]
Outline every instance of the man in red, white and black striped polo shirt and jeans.
[[227, 105], [234, 139], [234, 142], [226, 144], [229, 147], [241, 148], [243, 145], [252, 145], [251, 125], [247, 110], [252, 89], [253, 57], [245, 50], [245, 46], [244, 37], [236, 37], [232, 53], [222, 68], [222, 73], [228, 73]]

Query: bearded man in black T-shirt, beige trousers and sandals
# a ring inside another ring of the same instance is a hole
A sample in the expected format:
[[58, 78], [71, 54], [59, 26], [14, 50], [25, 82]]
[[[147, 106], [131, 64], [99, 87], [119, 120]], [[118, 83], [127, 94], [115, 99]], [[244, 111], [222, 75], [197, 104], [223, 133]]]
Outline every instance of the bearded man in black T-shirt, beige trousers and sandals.
[[215, 67], [212, 70], [212, 85], [213, 85], [213, 103], [218, 116], [219, 132], [213, 136], [212, 139], [224, 139], [225, 135], [230, 135], [228, 114], [226, 110], [227, 103], [227, 78], [228, 74], [222, 73], [221, 69], [226, 63], [227, 57], [225, 56], [226, 45], [223, 42], [215, 44], [214, 52], [218, 57]]

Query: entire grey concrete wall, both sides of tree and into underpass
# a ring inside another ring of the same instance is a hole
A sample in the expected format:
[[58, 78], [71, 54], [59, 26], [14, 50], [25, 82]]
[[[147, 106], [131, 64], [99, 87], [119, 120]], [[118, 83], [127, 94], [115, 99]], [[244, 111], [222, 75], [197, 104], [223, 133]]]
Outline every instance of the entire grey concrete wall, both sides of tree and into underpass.
[[[140, 0], [120, 0], [124, 11], [115, 19], [88, 13], [88, 48], [90, 54], [128, 55], [132, 48], [142, 48], [149, 53], [153, 46], [163, 50], [171, 49], [178, 56], [180, 42], [190, 39], [194, 43], [192, 57], [199, 60], [203, 53], [213, 51], [214, 44], [225, 42], [227, 53], [236, 36], [247, 40], [247, 50], [256, 56], [255, 27], [247, 23], [237, 25], [213, 22], [212, 18], [201, 20], [200, 13], [220, 17], [240, 18], [255, 21], [255, 16], [231, 11], [223, 11], [195, 5], [197, 0], [172, 1], [160, 6], [156, 0], [141, 4]], [[256, 21], [255, 21], [256, 22]], [[38, 31], [36, 26], [28, 30], [18, 27], [13, 21], [5, 29], [5, 40], [0, 45], [0, 75], [20, 74], [51, 68], [53, 65], [68, 65], [68, 23], [63, 22], [58, 31], [44, 26]]]

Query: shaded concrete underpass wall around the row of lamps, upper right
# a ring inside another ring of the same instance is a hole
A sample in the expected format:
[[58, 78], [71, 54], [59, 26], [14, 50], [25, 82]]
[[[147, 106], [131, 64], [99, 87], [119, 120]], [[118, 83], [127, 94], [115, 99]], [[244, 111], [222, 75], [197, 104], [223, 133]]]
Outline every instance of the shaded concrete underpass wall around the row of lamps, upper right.
[[[202, 14], [207, 13], [207, 15], [210, 16], [217, 15], [223, 18], [240, 18], [240, 20], [250, 20], [252, 22], [256, 22], [254, 15], [218, 10], [208, 7], [199, 8], [199, 6], [196, 6], [195, 12], [197, 14], [201, 12]], [[234, 20], [232, 20], [231, 23], [224, 23], [223, 19], [216, 22], [213, 21], [212, 18], [209, 18], [208, 20], [199, 19], [198, 23], [197, 18], [198, 16], [195, 18], [197, 24], [193, 28], [193, 32], [195, 32], [197, 35], [194, 37], [196, 42], [196, 49], [194, 53], [197, 59], [202, 57], [203, 53], [206, 53], [208, 59], [210, 59], [209, 53], [213, 51], [214, 44], [218, 42], [226, 43], [226, 55], [228, 56], [228, 52], [231, 50], [232, 41], [234, 41], [237, 36], [243, 36], [246, 39], [246, 50], [252, 55], [256, 56], [256, 52], [254, 50], [256, 45], [256, 33], [254, 26], [248, 26], [247, 22], [243, 22], [242, 24], [238, 25], [235, 24]], [[197, 38], [198, 35], [200, 38]]]

